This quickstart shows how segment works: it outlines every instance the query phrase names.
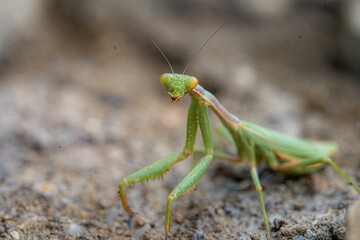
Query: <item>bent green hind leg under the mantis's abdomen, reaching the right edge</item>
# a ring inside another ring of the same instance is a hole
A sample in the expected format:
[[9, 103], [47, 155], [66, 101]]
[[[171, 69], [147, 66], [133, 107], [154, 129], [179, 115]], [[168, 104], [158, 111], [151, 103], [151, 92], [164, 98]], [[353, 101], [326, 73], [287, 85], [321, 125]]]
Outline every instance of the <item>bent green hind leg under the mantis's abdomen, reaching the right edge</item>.
[[329, 163], [360, 194], [360, 188], [329, 157], [304, 159], [291, 163], [278, 163], [276, 160], [274, 161], [274, 156], [267, 153], [265, 160], [268, 164], [270, 163], [269, 165], [272, 169], [285, 173], [311, 173], [318, 168], [316, 164]]

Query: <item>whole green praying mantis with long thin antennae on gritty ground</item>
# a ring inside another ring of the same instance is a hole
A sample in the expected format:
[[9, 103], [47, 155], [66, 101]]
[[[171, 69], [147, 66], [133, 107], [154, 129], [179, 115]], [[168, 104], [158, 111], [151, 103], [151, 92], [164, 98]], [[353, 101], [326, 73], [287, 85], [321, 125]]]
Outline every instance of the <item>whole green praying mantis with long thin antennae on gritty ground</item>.
[[[136, 24], [150, 38], [170, 66], [171, 73], [161, 75], [160, 81], [170, 94], [172, 100], [178, 101], [184, 95], [189, 95], [191, 97], [191, 104], [187, 116], [185, 147], [182, 152], [170, 153], [147, 167], [130, 174], [120, 182], [119, 195], [125, 211], [129, 214], [134, 214], [126, 201], [124, 187], [149, 179], [159, 178], [174, 164], [183, 161], [191, 154], [199, 153], [204, 155], [198, 163], [196, 163], [194, 158], [195, 161], [191, 171], [168, 195], [165, 213], [165, 239], [168, 239], [171, 229], [172, 201], [178, 199], [197, 184], [213, 158], [232, 162], [243, 161], [244, 157], [247, 159], [252, 181], [259, 194], [267, 239], [270, 239], [270, 228], [266, 216], [259, 174], [256, 168], [261, 160], [264, 160], [272, 170], [287, 174], [310, 174], [325, 163], [329, 163], [360, 194], [359, 187], [330, 158], [338, 149], [336, 143], [308, 141], [240, 120], [227, 111], [213, 94], [201, 87], [196, 77], [185, 75], [194, 57], [225, 24], [219, 27], [201, 46], [191, 58], [182, 74], [174, 73], [169, 60], [155, 41]], [[237, 156], [231, 156], [228, 153], [214, 150], [208, 108], [213, 110], [222, 122], [222, 127], [218, 128], [219, 132], [236, 147]], [[201, 148], [194, 147], [198, 126], [204, 143], [204, 147]]]

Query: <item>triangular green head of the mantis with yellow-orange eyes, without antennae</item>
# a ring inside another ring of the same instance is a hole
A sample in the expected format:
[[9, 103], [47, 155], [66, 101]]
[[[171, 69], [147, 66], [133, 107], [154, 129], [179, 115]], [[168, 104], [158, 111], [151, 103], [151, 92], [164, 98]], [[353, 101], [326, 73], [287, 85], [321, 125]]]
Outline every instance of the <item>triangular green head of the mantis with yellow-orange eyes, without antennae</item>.
[[171, 99], [177, 101], [184, 94], [191, 91], [197, 86], [198, 80], [196, 77], [184, 74], [164, 73], [160, 77], [160, 82], [171, 96]]

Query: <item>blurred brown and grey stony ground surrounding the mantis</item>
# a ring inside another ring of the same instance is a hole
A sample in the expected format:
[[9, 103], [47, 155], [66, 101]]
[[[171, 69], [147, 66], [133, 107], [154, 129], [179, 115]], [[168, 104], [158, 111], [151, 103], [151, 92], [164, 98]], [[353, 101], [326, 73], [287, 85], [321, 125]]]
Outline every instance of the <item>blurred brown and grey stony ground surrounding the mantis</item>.
[[[167, 194], [190, 161], [127, 188], [134, 217], [117, 185], [182, 150], [189, 99], [171, 102], [159, 82], [169, 66], [129, 19], [179, 73], [228, 21], [187, 74], [240, 119], [338, 142], [336, 161], [359, 184], [359, 12], [357, 0], [2, 1], [0, 236], [164, 237]], [[275, 239], [345, 239], [357, 195], [331, 167], [304, 177], [259, 171]], [[257, 234], [264, 239], [246, 163], [214, 160], [198, 190], [174, 202], [173, 239]]]

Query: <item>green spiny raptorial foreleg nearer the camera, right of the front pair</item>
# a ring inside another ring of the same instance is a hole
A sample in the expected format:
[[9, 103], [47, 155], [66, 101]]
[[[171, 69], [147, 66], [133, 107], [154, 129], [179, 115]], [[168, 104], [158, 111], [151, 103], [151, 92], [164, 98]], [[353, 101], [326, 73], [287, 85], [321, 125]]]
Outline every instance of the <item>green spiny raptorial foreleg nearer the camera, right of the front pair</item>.
[[200, 159], [193, 169], [181, 180], [181, 182], [173, 189], [167, 198], [166, 214], [165, 214], [165, 238], [167, 239], [171, 228], [172, 206], [171, 202], [184, 194], [191, 187], [195, 186], [200, 178], [204, 175], [213, 158], [213, 139], [211, 134], [211, 125], [209, 114], [206, 106], [197, 106], [197, 118], [200, 125], [201, 135], [205, 146], [205, 156]]

